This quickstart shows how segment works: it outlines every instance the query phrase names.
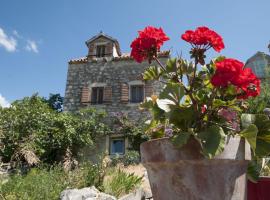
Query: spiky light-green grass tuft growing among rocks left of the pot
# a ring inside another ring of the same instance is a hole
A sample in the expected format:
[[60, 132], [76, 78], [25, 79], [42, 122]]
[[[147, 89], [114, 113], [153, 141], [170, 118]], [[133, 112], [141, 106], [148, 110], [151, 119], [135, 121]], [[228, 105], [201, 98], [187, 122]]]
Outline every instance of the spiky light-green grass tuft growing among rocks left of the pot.
[[120, 169], [111, 172], [111, 177], [105, 183], [105, 192], [116, 196], [128, 194], [133, 191], [142, 182], [142, 177], [128, 174]]

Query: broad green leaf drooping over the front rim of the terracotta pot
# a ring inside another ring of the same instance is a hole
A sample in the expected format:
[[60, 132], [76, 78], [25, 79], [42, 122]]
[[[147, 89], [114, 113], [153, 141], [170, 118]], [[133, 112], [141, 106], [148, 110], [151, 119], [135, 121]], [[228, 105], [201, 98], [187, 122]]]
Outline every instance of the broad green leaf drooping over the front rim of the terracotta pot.
[[208, 158], [213, 158], [224, 150], [226, 135], [220, 126], [210, 126], [197, 137], [201, 140], [203, 153]]

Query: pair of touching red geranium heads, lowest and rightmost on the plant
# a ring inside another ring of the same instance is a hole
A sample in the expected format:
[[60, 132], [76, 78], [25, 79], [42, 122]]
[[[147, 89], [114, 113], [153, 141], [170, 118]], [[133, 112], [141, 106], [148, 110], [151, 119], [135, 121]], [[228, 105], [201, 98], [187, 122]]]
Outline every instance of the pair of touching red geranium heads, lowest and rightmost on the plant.
[[246, 99], [260, 94], [260, 80], [250, 68], [243, 68], [244, 63], [235, 59], [224, 59], [215, 63], [216, 72], [211, 78], [215, 87], [236, 86], [239, 98]]

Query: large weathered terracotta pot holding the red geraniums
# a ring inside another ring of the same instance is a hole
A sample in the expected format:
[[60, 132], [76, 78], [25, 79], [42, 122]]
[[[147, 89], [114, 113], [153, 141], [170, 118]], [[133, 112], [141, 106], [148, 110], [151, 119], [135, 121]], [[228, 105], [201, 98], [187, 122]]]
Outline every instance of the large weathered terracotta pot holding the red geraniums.
[[190, 140], [176, 148], [168, 138], [141, 144], [154, 200], [245, 200], [250, 146], [238, 137], [226, 139], [222, 154], [205, 159]]

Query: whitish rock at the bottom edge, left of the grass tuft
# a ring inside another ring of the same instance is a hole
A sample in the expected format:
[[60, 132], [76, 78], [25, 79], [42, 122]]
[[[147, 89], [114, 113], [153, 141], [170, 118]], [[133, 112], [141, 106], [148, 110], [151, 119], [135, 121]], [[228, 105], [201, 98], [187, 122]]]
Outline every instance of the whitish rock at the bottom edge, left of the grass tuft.
[[115, 197], [98, 191], [94, 186], [82, 189], [67, 189], [61, 192], [61, 200], [116, 200]]

